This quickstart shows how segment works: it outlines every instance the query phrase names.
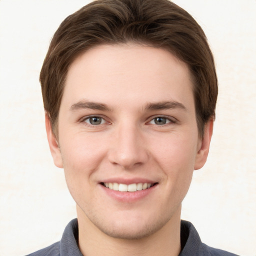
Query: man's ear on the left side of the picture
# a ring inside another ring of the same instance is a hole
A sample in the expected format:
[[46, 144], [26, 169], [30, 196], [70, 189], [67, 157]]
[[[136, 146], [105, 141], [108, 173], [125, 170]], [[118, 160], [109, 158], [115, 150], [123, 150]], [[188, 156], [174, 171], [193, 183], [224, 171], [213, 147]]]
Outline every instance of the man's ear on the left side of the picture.
[[58, 146], [56, 136], [52, 132], [50, 118], [47, 112], [45, 112], [45, 128], [53, 162], [57, 167], [63, 168], [60, 148]]

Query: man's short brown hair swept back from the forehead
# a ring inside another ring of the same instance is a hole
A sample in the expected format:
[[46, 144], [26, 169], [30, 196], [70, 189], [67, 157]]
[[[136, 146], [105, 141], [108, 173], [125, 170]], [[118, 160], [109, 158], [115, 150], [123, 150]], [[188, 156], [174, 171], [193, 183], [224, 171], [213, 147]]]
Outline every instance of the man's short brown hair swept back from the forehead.
[[214, 60], [202, 28], [169, 0], [95, 0], [62, 21], [40, 72], [44, 109], [52, 130], [57, 124], [66, 74], [74, 59], [99, 44], [127, 42], [167, 49], [188, 65], [202, 137], [204, 124], [215, 117]]

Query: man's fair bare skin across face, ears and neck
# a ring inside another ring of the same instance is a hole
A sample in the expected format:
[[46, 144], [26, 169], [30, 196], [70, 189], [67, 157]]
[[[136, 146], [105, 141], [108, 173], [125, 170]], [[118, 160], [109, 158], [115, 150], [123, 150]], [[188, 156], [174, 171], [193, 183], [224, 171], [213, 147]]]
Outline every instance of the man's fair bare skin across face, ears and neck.
[[[210, 120], [198, 136], [192, 87], [185, 63], [149, 46], [100, 45], [71, 64], [57, 139], [45, 119], [54, 163], [76, 202], [83, 255], [180, 252], [181, 202], [212, 134]], [[112, 196], [102, 185], [134, 180], [155, 185], [137, 197]]]

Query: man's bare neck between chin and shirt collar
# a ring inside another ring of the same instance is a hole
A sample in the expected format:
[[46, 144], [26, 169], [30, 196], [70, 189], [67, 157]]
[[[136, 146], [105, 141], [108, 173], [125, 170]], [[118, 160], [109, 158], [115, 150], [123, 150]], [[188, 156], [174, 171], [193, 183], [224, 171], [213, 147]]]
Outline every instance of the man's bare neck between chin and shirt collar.
[[155, 233], [140, 239], [120, 239], [99, 230], [77, 206], [79, 249], [84, 256], [177, 256], [181, 250], [180, 209]]

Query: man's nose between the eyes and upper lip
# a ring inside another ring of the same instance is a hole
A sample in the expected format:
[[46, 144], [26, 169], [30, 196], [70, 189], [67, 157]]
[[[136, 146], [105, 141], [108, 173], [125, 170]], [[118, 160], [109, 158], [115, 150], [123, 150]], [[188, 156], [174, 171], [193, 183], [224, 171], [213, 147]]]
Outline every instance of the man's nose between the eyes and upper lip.
[[124, 169], [132, 169], [148, 159], [145, 135], [135, 125], [119, 125], [111, 138], [108, 159]]

